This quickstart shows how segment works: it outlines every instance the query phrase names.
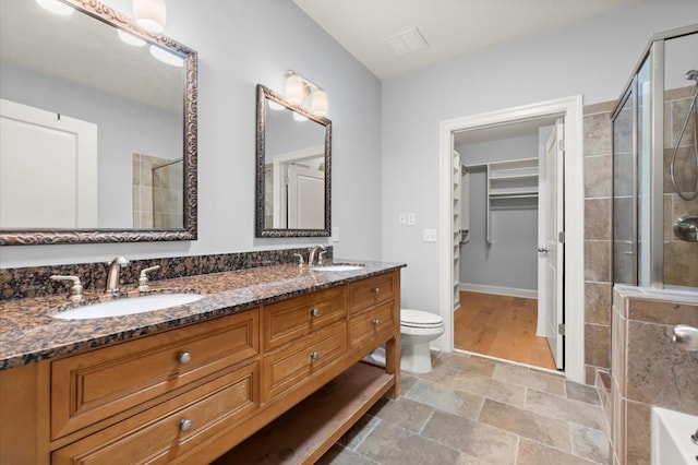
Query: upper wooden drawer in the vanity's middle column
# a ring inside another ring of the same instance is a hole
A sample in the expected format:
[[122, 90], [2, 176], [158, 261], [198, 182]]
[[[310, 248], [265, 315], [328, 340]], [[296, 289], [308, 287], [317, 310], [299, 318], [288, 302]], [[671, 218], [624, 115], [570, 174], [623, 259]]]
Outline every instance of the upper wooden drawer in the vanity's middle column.
[[296, 297], [262, 309], [264, 350], [296, 341], [347, 315], [346, 287]]

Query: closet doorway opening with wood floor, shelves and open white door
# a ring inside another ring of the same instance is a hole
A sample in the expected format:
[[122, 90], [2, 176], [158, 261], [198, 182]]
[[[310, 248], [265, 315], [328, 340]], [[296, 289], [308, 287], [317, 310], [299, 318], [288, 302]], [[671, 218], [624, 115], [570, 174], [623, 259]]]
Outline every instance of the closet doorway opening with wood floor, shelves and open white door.
[[455, 349], [563, 368], [556, 325], [563, 315], [555, 311], [562, 312], [556, 259], [563, 250], [556, 238], [547, 240], [562, 230], [555, 179], [563, 134], [559, 116], [454, 133], [462, 176], [454, 192], [461, 206], [454, 211], [461, 228], [454, 248], [460, 263]]

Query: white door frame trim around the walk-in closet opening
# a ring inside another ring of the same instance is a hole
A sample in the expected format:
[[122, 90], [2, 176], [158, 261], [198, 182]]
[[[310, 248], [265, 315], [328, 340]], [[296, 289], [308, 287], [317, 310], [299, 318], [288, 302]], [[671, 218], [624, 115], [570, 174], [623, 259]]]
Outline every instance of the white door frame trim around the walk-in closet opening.
[[563, 116], [565, 119], [565, 375], [586, 382], [585, 375], [585, 189], [582, 97], [547, 100], [480, 115], [444, 120], [440, 124], [440, 245], [438, 295], [445, 332], [435, 342], [444, 353], [454, 349], [453, 312], [453, 186], [452, 151], [455, 131], [473, 130], [520, 120]]

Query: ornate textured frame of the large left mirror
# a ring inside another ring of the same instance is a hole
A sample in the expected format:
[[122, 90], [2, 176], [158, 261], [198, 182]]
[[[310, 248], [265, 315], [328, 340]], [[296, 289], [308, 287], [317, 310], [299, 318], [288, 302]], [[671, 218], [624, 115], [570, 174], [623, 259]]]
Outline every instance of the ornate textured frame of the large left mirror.
[[96, 21], [101, 21], [115, 28], [125, 29], [151, 44], [157, 44], [184, 58], [183, 227], [176, 229], [0, 229], [0, 246], [196, 240], [197, 52], [165, 35], [147, 33], [137, 26], [131, 17], [95, 0], [60, 1], [93, 16]]

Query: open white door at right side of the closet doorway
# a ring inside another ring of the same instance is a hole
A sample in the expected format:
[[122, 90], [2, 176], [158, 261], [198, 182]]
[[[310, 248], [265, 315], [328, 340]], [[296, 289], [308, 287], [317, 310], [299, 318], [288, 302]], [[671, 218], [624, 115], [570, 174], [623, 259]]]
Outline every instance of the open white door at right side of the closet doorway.
[[[539, 305], [545, 315], [545, 337], [558, 369], [564, 365], [564, 305], [563, 270], [565, 259], [564, 231], [564, 155], [565, 134], [562, 119], [555, 122], [545, 144], [544, 214], [541, 215], [545, 231], [544, 243], [538, 251], [544, 267], [543, 279], [539, 279]], [[542, 301], [541, 301], [542, 299]]]

